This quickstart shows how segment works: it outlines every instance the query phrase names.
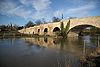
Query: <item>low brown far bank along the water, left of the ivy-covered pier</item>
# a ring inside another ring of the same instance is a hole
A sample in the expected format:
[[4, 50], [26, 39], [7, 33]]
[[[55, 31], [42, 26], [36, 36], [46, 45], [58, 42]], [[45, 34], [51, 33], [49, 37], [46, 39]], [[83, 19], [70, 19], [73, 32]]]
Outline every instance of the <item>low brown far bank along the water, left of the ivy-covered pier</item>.
[[17, 31], [3, 31], [0, 32], [0, 38], [20, 38], [20, 37], [53, 37], [49, 35], [37, 35], [37, 34], [23, 34]]

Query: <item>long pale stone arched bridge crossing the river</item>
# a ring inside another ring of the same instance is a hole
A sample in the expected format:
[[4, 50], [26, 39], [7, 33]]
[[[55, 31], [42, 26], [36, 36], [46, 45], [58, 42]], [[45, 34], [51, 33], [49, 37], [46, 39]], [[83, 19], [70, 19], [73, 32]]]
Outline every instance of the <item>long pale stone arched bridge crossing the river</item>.
[[[62, 20], [62, 21], [63, 21], [64, 27], [65, 27], [69, 20]], [[19, 32], [23, 33], [23, 34], [54, 35], [54, 33], [56, 31], [59, 31], [61, 29], [60, 28], [61, 22], [40, 24], [38, 26], [24, 28], [22, 30], [19, 30]], [[69, 31], [72, 28], [74, 28], [76, 26], [80, 26], [80, 25], [82, 25], [82, 26], [90, 25], [90, 26], [100, 28], [100, 16], [70, 19]]]

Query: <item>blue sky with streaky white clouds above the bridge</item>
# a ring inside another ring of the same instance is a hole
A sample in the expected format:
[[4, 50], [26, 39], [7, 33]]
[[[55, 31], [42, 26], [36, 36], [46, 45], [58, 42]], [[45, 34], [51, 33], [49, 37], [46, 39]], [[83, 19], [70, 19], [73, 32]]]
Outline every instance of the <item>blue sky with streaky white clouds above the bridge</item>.
[[64, 15], [68, 17], [100, 16], [100, 0], [0, 0], [0, 25], [25, 25], [29, 20]]

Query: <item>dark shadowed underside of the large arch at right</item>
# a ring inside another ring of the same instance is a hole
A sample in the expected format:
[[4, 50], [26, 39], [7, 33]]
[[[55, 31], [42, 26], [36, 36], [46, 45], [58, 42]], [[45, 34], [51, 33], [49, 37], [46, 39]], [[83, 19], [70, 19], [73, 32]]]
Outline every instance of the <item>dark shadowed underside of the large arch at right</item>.
[[74, 32], [79, 35], [80, 32], [86, 31], [86, 30], [91, 30], [91, 31], [94, 31], [95, 33], [100, 34], [100, 28], [93, 26], [93, 25], [88, 25], [88, 24], [76, 25], [76, 26], [70, 28], [69, 31], [67, 32], [67, 34], [69, 34], [70, 32]]

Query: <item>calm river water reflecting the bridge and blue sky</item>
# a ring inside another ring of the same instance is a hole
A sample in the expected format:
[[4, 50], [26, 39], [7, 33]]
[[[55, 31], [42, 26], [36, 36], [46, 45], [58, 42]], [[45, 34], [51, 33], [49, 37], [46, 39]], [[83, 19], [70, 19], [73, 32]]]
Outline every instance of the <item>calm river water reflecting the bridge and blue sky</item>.
[[80, 57], [100, 46], [100, 36], [0, 39], [0, 67], [83, 67]]

